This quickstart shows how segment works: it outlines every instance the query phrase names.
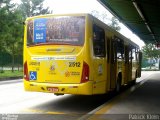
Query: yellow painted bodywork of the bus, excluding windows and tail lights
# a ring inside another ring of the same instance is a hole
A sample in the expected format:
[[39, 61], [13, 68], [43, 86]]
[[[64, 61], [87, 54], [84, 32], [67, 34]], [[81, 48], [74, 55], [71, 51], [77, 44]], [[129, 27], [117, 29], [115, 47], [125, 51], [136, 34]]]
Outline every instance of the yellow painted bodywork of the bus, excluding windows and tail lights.
[[[85, 39], [84, 45], [39, 45], [27, 46], [27, 23], [29, 20], [37, 18], [48, 18], [57, 16], [84, 16], [85, 17]], [[93, 25], [96, 24], [105, 32], [106, 57], [96, 57], [93, 49]], [[122, 73], [122, 85], [128, 84], [129, 78], [134, 78], [138, 69], [136, 63], [133, 64], [134, 71], [131, 74], [129, 66], [124, 60], [112, 64], [115, 49], [111, 48], [114, 36], [124, 40], [128, 46], [133, 42], [112, 30], [107, 25], [88, 14], [68, 14], [68, 15], [44, 15], [28, 18], [24, 31], [24, 63], [27, 62], [28, 74], [37, 72], [37, 80], [26, 81], [24, 87], [26, 91], [50, 92], [56, 94], [104, 94], [115, 89], [117, 76]], [[109, 52], [108, 52], [109, 51]], [[127, 49], [126, 49], [127, 51]], [[38, 64], [36, 63], [38, 62]], [[35, 63], [35, 64], [30, 64]], [[81, 83], [83, 65], [89, 66], [89, 81]], [[74, 66], [74, 67], [73, 67]], [[129, 76], [128, 76], [129, 75]], [[73, 87], [77, 86], [77, 87]], [[58, 88], [58, 91], [49, 91], [47, 88]]]

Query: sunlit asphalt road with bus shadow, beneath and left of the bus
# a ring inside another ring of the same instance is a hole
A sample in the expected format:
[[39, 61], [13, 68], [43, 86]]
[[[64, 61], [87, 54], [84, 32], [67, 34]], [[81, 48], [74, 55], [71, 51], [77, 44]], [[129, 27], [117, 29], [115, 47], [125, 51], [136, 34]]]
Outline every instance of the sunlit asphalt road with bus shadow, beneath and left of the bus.
[[[143, 72], [137, 82], [153, 72]], [[78, 119], [116, 95], [55, 96], [51, 93], [26, 92], [22, 80], [0, 82], [0, 120], [71, 120]], [[17, 116], [16, 116], [17, 115]]]

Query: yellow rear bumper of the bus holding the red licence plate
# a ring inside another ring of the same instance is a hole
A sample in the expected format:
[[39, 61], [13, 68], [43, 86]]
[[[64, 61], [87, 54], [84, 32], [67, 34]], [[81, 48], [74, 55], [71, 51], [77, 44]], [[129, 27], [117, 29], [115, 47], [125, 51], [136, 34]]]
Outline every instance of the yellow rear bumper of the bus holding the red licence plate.
[[24, 88], [26, 91], [47, 92], [54, 94], [92, 95], [93, 81], [88, 81], [81, 84], [52, 84], [24, 80]]

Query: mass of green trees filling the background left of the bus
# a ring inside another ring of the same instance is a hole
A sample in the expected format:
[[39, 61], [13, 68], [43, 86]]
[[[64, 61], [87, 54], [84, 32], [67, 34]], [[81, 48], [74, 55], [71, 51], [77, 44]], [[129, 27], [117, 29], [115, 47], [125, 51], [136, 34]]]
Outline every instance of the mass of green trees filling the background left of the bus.
[[23, 23], [27, 17], [51, 13], [43, 8], [44, 0], [0, 0], [0, 71], [6, 67], [22, 68], [23, 64]]

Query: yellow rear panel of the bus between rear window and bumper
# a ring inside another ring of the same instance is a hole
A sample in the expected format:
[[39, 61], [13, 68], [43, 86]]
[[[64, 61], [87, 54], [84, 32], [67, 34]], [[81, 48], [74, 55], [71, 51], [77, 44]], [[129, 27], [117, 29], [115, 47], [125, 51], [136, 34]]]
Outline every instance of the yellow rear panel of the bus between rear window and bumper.
[[[45, 46], [43, 51], [46, 51], [48, 48], [52, 47]], [[34, 48], [34, 54], [32, 54], [32, 49], [30, 50], [29, 48], [27, 50], [27, 63], [31, 81], [41, 83], [80, 83], [83, 66], [83, 48], [72, 47], [72, 49], [68, 49], [65, 46], [62, 48], [63, 54], [50, 52], [50, 55], [43, 53], [39, 49], [42, 50], [39, 46]], [[71, 51], [71, 55], [66, 55], [67, 52], [64, 53], [63, 49]], [[32, 74], [36, 74], [36, 78], [32, 78]]]

